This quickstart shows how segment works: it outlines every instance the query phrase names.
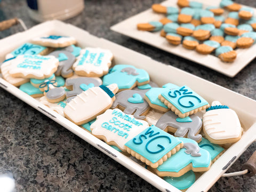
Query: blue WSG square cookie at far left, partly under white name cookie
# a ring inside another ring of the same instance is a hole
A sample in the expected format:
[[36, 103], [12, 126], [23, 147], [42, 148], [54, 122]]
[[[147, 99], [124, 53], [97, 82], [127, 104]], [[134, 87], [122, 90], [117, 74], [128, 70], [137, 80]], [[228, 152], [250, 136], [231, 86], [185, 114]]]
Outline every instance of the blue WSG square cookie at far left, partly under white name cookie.
[[19, 46], [17, 49], [12, 51], [11, 53], [7, 54], [5, 56], [5, 59], [17, 57], [22, 54], [45, 55], [45, 54], [47, 54], [48, 51], [49, 51], [49, 49], [47, 49], [47, 47], [45, 47], [45, 46], [35, 45], [32, 43], [25, 43], [25, 44]]

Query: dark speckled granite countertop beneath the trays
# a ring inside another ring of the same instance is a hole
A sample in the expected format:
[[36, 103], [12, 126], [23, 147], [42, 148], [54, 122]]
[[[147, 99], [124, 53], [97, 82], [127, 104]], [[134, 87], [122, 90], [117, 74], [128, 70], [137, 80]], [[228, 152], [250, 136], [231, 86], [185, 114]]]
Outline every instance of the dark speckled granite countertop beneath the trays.
[[[109, 29], [160, 2], [85, 1], [84, 11], [66, 22], [255, 100], [255, 59], [236, 77], [229, 78]], [[256, 7], [254, 0], [236, 2]], [[0, 21], [13, 17], [21, 18], [28, 28], [37, 24], [28, 17], [26, 1], [3, 0]], [[21, 26], [14, 26], [0, 32], [0, 38], [18, 31], [22, 31]], [[89, 143], [1, 88], [0, 99], [0, 173], [14, 178], [17, 191], [157, 191]], [[256, 143], [228, 172], [240, 171], [254, 150]], [[220, 178], [210, 189], [212, 192], [255, 190], [255, 176]]]

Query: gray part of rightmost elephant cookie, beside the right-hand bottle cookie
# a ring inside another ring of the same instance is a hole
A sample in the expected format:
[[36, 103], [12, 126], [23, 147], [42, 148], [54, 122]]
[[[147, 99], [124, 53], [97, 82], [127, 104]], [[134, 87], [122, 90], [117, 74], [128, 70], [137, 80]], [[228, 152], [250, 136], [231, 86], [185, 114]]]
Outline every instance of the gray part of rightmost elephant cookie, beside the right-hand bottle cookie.
[[174, 133], [177, 137], [185, 137], [188, 133], [188, 138], [198, 141], [202, 138], [201, 134], [196, 133], [202, 127], [202, 120], [196, 115], [190, 115], [192, 122], [177, 122], [177, 115], [172, 111], [167, 111], [161, 118], [158, 119], [156, 126], [162, 130], [165, 130], [167, 126], [174, 127], [177, 131]]

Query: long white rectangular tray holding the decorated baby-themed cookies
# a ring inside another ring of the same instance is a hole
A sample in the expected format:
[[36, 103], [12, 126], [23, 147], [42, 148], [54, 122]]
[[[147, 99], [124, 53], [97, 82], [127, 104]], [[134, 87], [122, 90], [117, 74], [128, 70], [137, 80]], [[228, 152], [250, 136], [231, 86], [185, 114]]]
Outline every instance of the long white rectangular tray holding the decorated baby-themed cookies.
[[[166, 83], [173, 83], [179, 86], [188, 85], [195, 90], [209, 103], [213, 100], [219, 100], [225, 103], [230, 108], [234, 109], [244, 128], [244, 134], [241, 140], [231, 146], [211, 167], [211, 169], [199, 177], [193, 186], [187, 191], [207, 191], [211, 186], [225, 173], [228, 168], [236, 161], [236, 159], [246, 150], [251, 143], [256, 140], [256, 101], [244, 97], [241, 94], [235, 93], [224, 87], [205, 81], [202, 78], [196, 77], [185, 71], [174, 68], [172, 66], [164, 65], [163, 63], [152, 60], [145, 55], [129, 50], [123, 46], [109, 42], [106, 39], [98, 38], [90, 35], [87, 31], [79, 29], [73, 25], [63, 23], [61, 21], [48, 21], [37, 25], [27, 31], [18, 33], [0, 40], [0, 61], [4, 61], [5, 55], [20, 46], [30, 39], [42, 35], [67, 35], [74, 36], [77, 39], [80, 47], [101, 47], [109, 49], [114, 54], [114, 63], [133, 65], [137, 68], [142, 68], [148, 71], [152, 81], [158, 85]], [[155, 69], [158, 73], [155, 73]], [[159, 75], [161, 74], [161, 75]], [[124, 165], [139, 177], [145, 179], [159, 190], [165, 192], [180, 191], [173, 187], [154, 173], [151, 173], [144, 167], [133, 162], [130, 158], [119, 153], [117, 150], [108, 146], [105, 142], [95, 138], [92, 134], [81, 129], [81, 127], [70, 122], [65, 117], [55, 113], [55, 111], [44, 106], [28, 94], [22, 92], [17, 87], [6, 82], [0, 78], [0, 86], [6, 91], [12, 93], [17, 98], [28, 103], [44, 115], [53, 119], [53, 121], [66, 127], [69, 131], [76, 134], [78, 137], [89, 142], [95, 148], [101, 150], [103, 153], [113, 158], [116, 162]]]

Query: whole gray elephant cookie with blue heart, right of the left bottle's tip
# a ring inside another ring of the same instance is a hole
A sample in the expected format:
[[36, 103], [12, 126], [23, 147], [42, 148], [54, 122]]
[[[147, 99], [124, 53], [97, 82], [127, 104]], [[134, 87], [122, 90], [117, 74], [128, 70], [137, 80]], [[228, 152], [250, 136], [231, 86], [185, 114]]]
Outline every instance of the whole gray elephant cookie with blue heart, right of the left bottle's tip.
[[143, 99], [145, 93], [135, 90], [125, 90], [115, 95], [116, 100], [111, 108], [119, 108], [125, 114], [133, 115], [137, 119], [145, 119], [150, 106]]

